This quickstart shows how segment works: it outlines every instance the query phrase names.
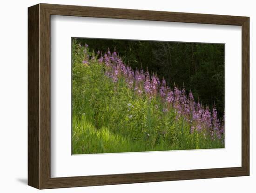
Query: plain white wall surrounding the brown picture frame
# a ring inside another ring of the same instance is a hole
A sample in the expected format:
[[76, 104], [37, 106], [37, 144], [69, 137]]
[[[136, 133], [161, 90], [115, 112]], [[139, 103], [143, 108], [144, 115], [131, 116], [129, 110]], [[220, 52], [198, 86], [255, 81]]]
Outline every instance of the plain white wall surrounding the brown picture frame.
[[[42, 190], [60, 193], [189, 192], [219, 193], [256, 191], [254, 132], [256, 103], [256, 12], [252, 0], [23, 0], [2, 1], [0, 6], [0, 192], [39, 192], [27, 186], [27, 7], [37, 3], [73, 4], [189, 13], [211, 13], [250, 17], [250, 176], [204, 180], [78, 187]], [[236, 104], [234, 104], [236, 105]]]

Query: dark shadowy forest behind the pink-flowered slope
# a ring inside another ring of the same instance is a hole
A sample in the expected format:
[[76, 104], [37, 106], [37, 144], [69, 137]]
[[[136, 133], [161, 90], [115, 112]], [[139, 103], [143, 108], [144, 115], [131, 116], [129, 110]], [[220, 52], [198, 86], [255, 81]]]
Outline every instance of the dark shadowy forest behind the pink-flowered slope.
[[179, 88], [191, 90], [196, 101], [224, 113], [224, 44], [137, 41], [117, 39], [77, 39], [95, 52], [110, 49], [125, 64], [135, 69], [148, 69]]

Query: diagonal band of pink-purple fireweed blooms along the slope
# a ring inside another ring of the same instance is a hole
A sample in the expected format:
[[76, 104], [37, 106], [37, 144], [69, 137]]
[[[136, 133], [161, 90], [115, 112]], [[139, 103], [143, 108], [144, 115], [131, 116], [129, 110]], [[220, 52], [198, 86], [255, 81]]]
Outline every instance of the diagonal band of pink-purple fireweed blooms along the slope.
[[[87, 50], [86, 46], [85, 50]], [[98, 51], [97, 55], [101, 56], [102, 54]], [[108, 49], [108, 52], [101, 56], [98, 62], [107, 67], [105, 75], [111, 78], [114, 83], [119, 81], [118, 77], [123, 77], [128, 88], [133, 90], [135, 95], [143, 97], [146, 93], [149, 99], [160, 96], [162, 103], [168, 104], [168, 109], [174, 109], [176, 119], [183, 118], [190, 125], [190, 133], [204, 130], [212, 137], [218, 138], [224, 134], [224, 116], [220, 120], [215, 107], [210, 112], [209, 107], [204, 108], [201, 103], [196, 103], [191, 90], [186, 95], [184, 88], [180, 90], [175, 86], [174, 90], [171, 90], [164, 78], [162, 78], [161, 83], [155, 74], [150, 76], [148, 71], [137, 69], [134, 71], [123, 63], [116, 51], [111, 53]], [[89, 64], [89, 61], [83, 60], [82, 63]], [[128, 107], [132, 107], [132, 104], [128, 103]], [[155, 105], [155, 108], [160, 107]], [[168, 112], [168, 109], [163, 108], [162, 112]], [[132, 118], [132, 115], [128, 115], [128, 117]]]

